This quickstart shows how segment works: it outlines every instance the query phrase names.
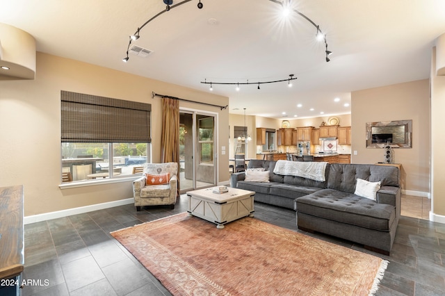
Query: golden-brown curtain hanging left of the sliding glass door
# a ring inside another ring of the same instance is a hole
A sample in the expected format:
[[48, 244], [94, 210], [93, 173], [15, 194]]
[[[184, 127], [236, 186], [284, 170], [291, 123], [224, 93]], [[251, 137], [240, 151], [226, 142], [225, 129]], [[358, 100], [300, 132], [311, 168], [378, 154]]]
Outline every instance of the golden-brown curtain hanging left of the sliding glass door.
[[161, 161], [178, 163], [179, 195], [179, 101], [162, 98]]

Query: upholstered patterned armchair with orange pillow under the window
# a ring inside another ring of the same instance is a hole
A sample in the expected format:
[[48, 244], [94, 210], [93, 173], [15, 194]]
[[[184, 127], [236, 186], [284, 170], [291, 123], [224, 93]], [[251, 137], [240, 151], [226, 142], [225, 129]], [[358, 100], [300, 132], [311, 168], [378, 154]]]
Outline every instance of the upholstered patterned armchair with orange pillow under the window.
[[170, 205], [175, 208], [178, 188], [177, 163], [145, 163], [143, 176], [133, 181], [134, 206]]

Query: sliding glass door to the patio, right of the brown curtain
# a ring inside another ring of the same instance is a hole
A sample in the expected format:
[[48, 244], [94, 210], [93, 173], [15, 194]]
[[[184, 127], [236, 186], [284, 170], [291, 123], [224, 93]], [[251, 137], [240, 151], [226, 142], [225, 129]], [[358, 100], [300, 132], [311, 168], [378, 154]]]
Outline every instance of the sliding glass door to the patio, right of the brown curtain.
[[216, 117], [179, 111], [180, 193], [216, 186]]

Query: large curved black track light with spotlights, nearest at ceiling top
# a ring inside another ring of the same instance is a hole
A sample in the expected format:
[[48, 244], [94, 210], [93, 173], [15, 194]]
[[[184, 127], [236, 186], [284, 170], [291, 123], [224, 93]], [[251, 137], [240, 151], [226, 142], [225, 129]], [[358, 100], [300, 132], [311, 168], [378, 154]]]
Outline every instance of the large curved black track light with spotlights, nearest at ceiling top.
[[[139, 31], [140, 31], [142, 28], [144, 28], [145, 26], [147, 26], [147, 24], [149, 24], [149, 22], [152, 22], [152, 20], [156, 19], [156, 17], [159, 17], [160, 15], [163, 15], [164, 13], [166, 13], [166, 12], [172, 10], [173, 8], [177, 8], [178, 6], [181, 6], [182, 4], [187, 3], [187, 2], [190, 2], [190, 1], [192, 1], [192, 0], [184, 0], [184, 1], [181, 1], [181, 2], [179, 2], [179, 3], [177, 3], [177, 4], [175, 4], [175, 5], [172, 5], [172, 4], [173, 4], [173, 0], [163, 0], [163, 3], [166, 4], [165, 10], [162, 10], [162, 11], [159, 12], [158, 14], [154, 15], [154, 17], [148, 19], [147, 22], [145, 22], [142, 26], [140, 26], [140, 27], [138, 28], [138, 30], [137, 30], [133, 35], [130, 36], [130, 41], [129, 41], [129, 43], [128, 43], [128, 47], [127, 47], [127, 57], [122, 58], [122, 60], [123, 60], [124, 62], [126, 62], [126, 63], [127, 63], [127, 61], [129, 60], [128, 51], [129, 51], [129, 49], [130, 49], [131, 42], [132, 42], [132, 41], [136, 41], [136, 40], [138, 40], [138, 39], [140, 38]], [[304, 19], [306, 19], [307, 22], [311, 23], [313, 26], [316, 27], [316, 30], [317, 30], [317, 31], [316, 31], [316, 37], [317, 37], [317, 39], [319, 38], [320, 40], [324, 40], [324, 42], [325, 42], [325, 46], [326, 46], [326, 51], [325, 51], [325, 53], [326, 53], [326, 62], [329, 62], [330, 59], [327, 58], [327, 56], [330, 56], [330, 55], [332, 54], [332, 51], [327, 50], [326, 34], [323, 34], [323, 32], [321, 31], [320, 26], [318, 26], [317, 24], [315, 24], [315, 23], [312, 21], [312, 19], [309, 19], [309, 17], [307, 17], [306, 15], [303, 15], [302, 13], [300, 13], [300, 11], [291, 8], [291, 0], [269, 0], [269, 1], [271, 1], [271, 2], [273, 2], [273, 3], [276, 3], [276, 4], [280, 5], [280, 6], [282, 6], [283, 9], [289, 10], [289, 12], [292, 12], [292, 11], [293, 11], [294, 13], [296, 13], [297, 15], [300, 15], [301, 17], [303, 17]], [[203, 4], [201, 3], [201, 0], [199, 0], [199, 2], [197, 3], [197, 8], [202, 9], [202, 7], [203, 7]], [[259, 85], [258, 85], [258, 86], [259, 86]]]

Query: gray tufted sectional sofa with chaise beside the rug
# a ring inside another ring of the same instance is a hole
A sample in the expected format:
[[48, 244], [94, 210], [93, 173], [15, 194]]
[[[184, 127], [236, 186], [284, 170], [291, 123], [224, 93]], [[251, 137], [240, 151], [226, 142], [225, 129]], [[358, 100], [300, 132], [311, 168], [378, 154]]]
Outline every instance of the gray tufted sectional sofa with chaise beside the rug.
[[[231, 186], [256, 192], [257, 202], [294, 209], [299, 229], [337, 236], [389, 254], [401, 215], [401, 176], [397, 167], [327, 164], [325, 181], [314, 181], [275, 174], [276, 163], [252, 160], [248, 165], [248, 169], [268, 171], [269, 182], [245, 181], [245, 172], [238, 172], [231, 175]], [[380, 181], [375, 201], [355, 195], [357, 179]]]

